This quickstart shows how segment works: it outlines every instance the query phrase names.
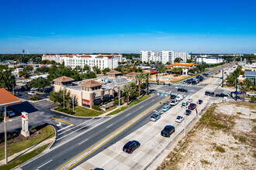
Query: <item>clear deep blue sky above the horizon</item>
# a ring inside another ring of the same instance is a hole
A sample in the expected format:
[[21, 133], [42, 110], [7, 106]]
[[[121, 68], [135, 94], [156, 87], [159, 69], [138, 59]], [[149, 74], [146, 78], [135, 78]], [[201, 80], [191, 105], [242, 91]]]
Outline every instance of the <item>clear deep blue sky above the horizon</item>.
[[256, 53], [255, 0], [0, 3], [0, 53]]

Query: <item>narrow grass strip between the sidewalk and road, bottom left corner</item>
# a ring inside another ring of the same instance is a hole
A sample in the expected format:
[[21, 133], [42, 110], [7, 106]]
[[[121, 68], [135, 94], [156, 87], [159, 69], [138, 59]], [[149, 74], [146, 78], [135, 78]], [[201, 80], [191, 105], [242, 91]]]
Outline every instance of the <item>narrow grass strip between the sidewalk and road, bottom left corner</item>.
[[48, 145], [50, 145], [50, 144], [43, 145], [42, 147], [37, 148], [34, 151], [30, 151], [29, 153], [27, 153], [25, 155], [22, 155], [19, 158], [16, 158], [16, 159], [12, 160], [12, 162], [9, 162], [7, 165], [0, 166], [0, 169], [2, 169], [2, 170], [6, 169], [7, 170], [7, 169], [14, 168], [17, 165], [20, 165], [23, 162], [28, 161], [30, 158], [33, 158], [36, 155], [39, 155], [42, 151], [44, 151], [48, 147]]

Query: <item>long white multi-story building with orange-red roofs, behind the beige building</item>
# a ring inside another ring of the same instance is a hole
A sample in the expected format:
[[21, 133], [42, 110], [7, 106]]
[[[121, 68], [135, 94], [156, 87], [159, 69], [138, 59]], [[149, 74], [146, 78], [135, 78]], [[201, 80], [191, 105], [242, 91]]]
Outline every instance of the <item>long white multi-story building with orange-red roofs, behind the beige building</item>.
[[122, 56], [122, 54], [112, 54], [112, 55], [85, 55], [85, 54], [72, 54], [72, 55], [48, 55], [43, 54], [42, 60], [53, 60], [56, 63], [63, 63], [65, 66], [71, 66], [71, 68], [75, 68], [76, 66], [80, 66], [83, 68], [85, 65], [90, 66], [91, 68], [93, 66], [98, 66], [99, 69], [114, 69], [118, 66], [118, 62], [123, 61], [125, 57]]

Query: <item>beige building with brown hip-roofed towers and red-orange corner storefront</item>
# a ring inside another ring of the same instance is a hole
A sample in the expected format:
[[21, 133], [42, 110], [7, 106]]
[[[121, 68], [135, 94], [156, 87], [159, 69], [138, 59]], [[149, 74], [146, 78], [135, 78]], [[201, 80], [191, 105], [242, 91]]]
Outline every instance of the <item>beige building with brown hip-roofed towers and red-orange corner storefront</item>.
[[54, 91], [70, 91], [71, 96], [78, 106], [92, 109], [92, 105], [103, 104], [118, 96], [119, 86], [102, 88], [103, 83], [95, 80], [85, 80], [81, 83], [74, 83], [74, 79], [67, 76], [61, 76], [54, 80]]

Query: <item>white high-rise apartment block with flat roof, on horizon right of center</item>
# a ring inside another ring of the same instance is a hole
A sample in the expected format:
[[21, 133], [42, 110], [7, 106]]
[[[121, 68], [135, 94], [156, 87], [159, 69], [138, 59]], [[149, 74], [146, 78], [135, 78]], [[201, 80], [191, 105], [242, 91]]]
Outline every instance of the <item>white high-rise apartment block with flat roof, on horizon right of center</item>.
[[176, 58], [181, 58], [182, 63], [186, 63], [187, 59], [191, 59], [189, 53], [186, 52], [174, 52], [174, 51], [140, 51], [140, 60], [142, 62], [161, 62], [161, 63], [175, 63]]

